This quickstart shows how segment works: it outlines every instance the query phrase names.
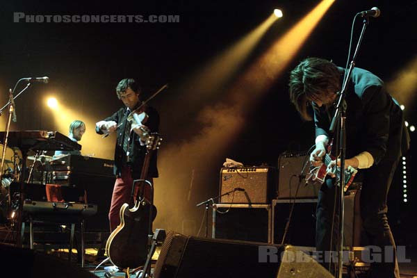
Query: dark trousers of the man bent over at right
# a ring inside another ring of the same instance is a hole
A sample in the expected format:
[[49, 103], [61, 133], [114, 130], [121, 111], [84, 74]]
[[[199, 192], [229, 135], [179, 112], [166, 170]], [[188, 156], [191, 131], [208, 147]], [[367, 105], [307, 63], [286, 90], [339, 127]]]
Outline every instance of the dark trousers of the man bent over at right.
[[[378, 165], [374, 165], [369, 169], [359, 170], [362, 172], [361, 175], [363, 178], [360, 199], [363, 231], [368, 238], [369, 245], [377, 247], [374, 252], [380, 251], [379, 254], [381, 254], [380, 257], [382, 259], [380, 262], [371, 263], [370, 277], [400, 277], [395, 256], [394, 238], [391, 234], [388, 218], [386, 217], [388, 211], [386, 196], [398, 161], [399, 159], [383, 160]], [[337, 247], [337, 206], [333, 223], [334, 233], [332, 234], [335, 194], [336, 186], [334, 186], [334, 179], [326, 179], [318, 193], [316, 210], [316, 250], [318, 251], [336, 250]], [[338, 199], [336, 199], [336, 203], [338, 203], [337, 201]], [[331, 247], [332, 239], [333, 244]], [[385, 251], [390, 252], [392, 256], [385, 254]], [[325, 259], [323, 265], [329, 268], [329, 257], [324, 256], [323, 259]], [[337, 263], [337, 260], [334, 262]]]

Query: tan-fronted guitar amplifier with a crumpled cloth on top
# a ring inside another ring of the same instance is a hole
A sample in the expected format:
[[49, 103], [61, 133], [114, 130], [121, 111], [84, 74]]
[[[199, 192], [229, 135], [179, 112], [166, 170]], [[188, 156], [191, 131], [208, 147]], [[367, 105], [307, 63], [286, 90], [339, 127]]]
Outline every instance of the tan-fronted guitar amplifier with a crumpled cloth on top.
[[273, 167], [222, 167], [220, 195], [231, 193], [220, 197], [220, 203], [270, 204], [275, 172]]

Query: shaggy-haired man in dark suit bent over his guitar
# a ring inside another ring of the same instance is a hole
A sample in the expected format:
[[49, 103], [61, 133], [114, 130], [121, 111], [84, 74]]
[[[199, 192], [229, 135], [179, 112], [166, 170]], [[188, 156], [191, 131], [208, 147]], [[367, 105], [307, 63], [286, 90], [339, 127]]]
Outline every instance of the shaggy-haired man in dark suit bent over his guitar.
[[[291, 102], [304, 120], [314, 120], [316, 125], [316, 149], [310, 156], [314, 166], [321, 165], [329, 138], [332, 138], [328, 130], [344, 74], [343, 68], [322, 58], [306, 58], [291, 72]], [[344, 105], [347, 107], [345, 167], [360, 169], [357, 179], [362, 181], [363, 231], [368, 237], [368, 245], [380, 247], [379, 254], [382, 254], [382, 261], [371, 266], [371, 277], [400, 277], [395, 243], [386, 216], [386, 196], [400, 156], [408, 149], [402, 110], [386, 92], [381, 79], [359, 68], [352, 72]], [[331, 246], [332, 250], [336, 248], [334, 241], [331, 245], [331, 238], [335, 240], [337, 236], [332, 236], [336, 187], [331, 169], [335, 164], [335, 161], [329, 164], [330, 175], [320, 188], [316, 211], [316, 248], [323, 252], [325, 267], [329, 267], [329, 257], [326, 256], [329, 252], [326, 251], [331, 250]], [[337, 221], [334, 230], [338, 230]], [[384, 250], [393, 254], [387, 256], [393, 258], [391, 261], [384, 261]]]

